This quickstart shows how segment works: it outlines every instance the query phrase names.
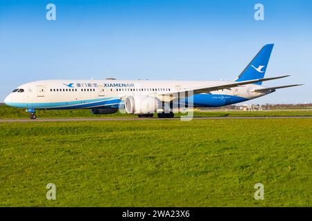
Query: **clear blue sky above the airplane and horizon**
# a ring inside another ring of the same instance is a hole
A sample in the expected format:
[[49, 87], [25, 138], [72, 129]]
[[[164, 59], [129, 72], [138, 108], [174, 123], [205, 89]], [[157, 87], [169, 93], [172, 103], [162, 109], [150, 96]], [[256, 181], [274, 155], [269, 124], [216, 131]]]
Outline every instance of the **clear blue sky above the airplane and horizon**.
[[[55, 3], [56, 21], [46, 20]], [[254, 20], [254, 5], [264, 21]], [[0, 1], [0, 101], [38, 79], [232, 80], [275, 44], [265, 86], [250, 103], [312, 102], [312, 1]]]

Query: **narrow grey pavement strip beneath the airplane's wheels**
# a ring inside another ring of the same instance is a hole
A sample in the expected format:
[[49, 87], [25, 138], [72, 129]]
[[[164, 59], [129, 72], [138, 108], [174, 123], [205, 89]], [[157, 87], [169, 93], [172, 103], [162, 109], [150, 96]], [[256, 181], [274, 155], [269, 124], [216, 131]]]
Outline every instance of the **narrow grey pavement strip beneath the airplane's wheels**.
[[[312, 118], [312, 116], [272, 116], [272, 117], [193, 117], [193, 119], [283, 119]], [[180, 117], [119, 117], [119, 118], [53, 118], [53, 119], [0, 119], [0, 122], [94, 122], [94, 121], [129, 121], [129, 120], [180, 120]]]

